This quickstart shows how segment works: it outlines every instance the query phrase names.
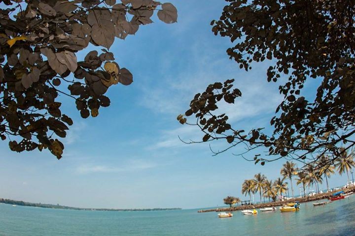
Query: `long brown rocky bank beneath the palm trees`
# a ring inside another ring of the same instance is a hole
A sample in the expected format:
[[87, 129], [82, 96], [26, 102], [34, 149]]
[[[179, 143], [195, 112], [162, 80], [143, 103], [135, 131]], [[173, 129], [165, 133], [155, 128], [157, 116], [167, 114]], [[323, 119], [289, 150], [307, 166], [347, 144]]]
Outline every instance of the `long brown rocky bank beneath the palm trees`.
[[[348, 187], [346, 189], [342, 189], [344, 193], [349, 193], [349, 192], [354, 192], [355, 191], [355, 186]], [[339, 190], [340, 191], [340, 190]], [[263, 208], [263, 207], [277, 207], [277, 206], [282, 206], [286, 203], [291, 203], [298, 201], [300, 203], [306, 203], [306, 202], [311, 202], [311, 201], [317, 201], [321, 199], [327, 199], [329, 198], [333, 193], [338, 192], [338, 191], [333, 191], [330, 193], [320, 193], [316, 194], [315, 196], [306, 196], [303, 198], [295, 198], [291, 200], [286, 200], [286, 201], [278, 201], [278, 202], [271, 202], [271, 203], [261, 203], [261, 204], [254, 204], [254, 205], [245, 205], [245, 206], [239, 206], [239, 207], [228, 207], [228, 208], [215, 208], [215, 209], [207, 209], [207, 210], [198, 210], [197, 212], [211, 212], [211, 211], [236, 211], [236, 210], [246, 210], [246, 209], [252, 209], [252, 208]]]

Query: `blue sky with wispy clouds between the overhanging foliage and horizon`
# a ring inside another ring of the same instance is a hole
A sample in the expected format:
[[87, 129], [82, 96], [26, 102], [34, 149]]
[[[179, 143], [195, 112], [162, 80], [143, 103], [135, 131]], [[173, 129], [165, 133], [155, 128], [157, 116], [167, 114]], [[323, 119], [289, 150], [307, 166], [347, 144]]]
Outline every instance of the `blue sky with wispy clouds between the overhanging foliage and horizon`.
[[[240, 70], [225, 52], [228, 39], [212, 33], [210, 22], [219, 18], [224, 1], [171, 2], [178, 23], [154, 18], [154, 24], [111, 46], [134, 83], [111, 87], [106, 93], [111, 105], [97, 118], [82, 119], [74, 101], [61, 97], [64, 113], [74, 120], [61, 160], [47, 150], [15, 153], [0, 142], [0, 197], [75, 207], [197, 208], [222, 206], [227, 195], [242, 197], [242, 182], [258, 172], [269, 179], [280, 176], [285, 160], [255, 166], [232, 155], [243, 149], [212, 156], [206, 144], [178, 140], [178, 135], [202, 138], [176, 117], [210, 83], [236, 79], [243, 97], [222, 109], [245, 130], [267, 127], [282, 97], [276, 84], [266, 82], [270, 62], [253, 64], [248, 73]], [[311, 89], [313, 84], [317, 81]], [[338, 186], [346, 178], [333, 176], [329, 182]]]

